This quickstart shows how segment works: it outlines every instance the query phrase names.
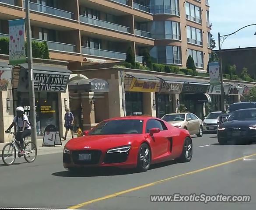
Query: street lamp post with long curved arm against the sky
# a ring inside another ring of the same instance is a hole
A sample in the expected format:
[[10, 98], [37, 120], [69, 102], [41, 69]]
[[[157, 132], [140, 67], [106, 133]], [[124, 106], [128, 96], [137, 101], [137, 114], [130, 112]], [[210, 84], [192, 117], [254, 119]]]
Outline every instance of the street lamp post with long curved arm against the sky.
[[[220, 80], [221, 80], [221, 111], [224, 112], [225, 108], [224, 108], [224, 88], [223, 88], [223, 70], [222, 70], [222, 55], [221, 55], [221, 37], [224, 37], [222, 43], [226, 40], [226, 38], [228, 38], [229, 36], [235, 34], [236, 32], [242, 30], [243, 28], [252, 26], [252, 25], [256, 25], [256, 24], [251, 24], [251, 25], [246, 25], [240, 29], [238, 29], [237, 31], [228, 34], [228, 35], [221, 35], [220, 33], [218, 33], [218, 43], [219, 43], [219, 63], [220, 63]], [[256, 35], [256, 32], [255, 34]]]

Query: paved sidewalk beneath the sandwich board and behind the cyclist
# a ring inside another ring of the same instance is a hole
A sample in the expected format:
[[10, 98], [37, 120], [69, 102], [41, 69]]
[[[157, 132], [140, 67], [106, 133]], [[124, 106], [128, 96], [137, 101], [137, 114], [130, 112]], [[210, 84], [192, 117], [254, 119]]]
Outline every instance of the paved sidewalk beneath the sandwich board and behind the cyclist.
[[[76, 136], [75, 136], [75, 137], [76, 137]], [[29, 137], [28, 139], [30, 140], [30, 137]], [[68, 140], [69, 140], [69, 139], [70, 139], [70, 138], [68, 138]], [[61, 146], [61, 145], [56, 145], [55, 147], [51, 147], [51, 146], [44, 146], [44, 147], [42, 147], [42, 140], [43, 140], [43, 137], [42, 137], [42, 136], [37, 137], [37, 154], [38, 154], [38, 155], [62, 153], [65, 144], [68, 142], [68, 140], [64, 141], [64, 140], [62, 139], [62, 141], [61, 141], [62, 146]], [[2, 154], [3, 147], [4, 147], [4, 145], [6, 145], [7, 143], [8, 143], [8, 142], [0, 143], [0, 154]]]

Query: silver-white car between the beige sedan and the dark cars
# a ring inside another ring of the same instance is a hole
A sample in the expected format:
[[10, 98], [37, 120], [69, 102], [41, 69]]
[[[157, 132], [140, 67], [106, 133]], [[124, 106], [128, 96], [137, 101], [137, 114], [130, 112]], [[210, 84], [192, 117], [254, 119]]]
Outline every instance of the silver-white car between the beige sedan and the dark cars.
[[210, 112], [210, 114], [203, 120], [203, 132], [217, 132], [217, 119], [221, 116], [221, 111]]

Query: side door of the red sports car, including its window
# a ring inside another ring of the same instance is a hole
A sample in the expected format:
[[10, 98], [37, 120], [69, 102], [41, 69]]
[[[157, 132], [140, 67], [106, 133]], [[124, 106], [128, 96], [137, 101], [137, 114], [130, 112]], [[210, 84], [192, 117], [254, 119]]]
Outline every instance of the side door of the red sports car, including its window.
[[166, 137], [166, 126], [163, 128], [160, 120], [157, 119], [149, 119], [146, 123], [146, 133], [149, 133], [151, 128], [159, 128], [159, 133], [154, 133], [154, 135], [150, 138], [151, 142], [151, 152], [152, 152], [152, 159], [158, 158], [161, 155], [165, 154], [168, 151], [168, 143], [169, 140]]

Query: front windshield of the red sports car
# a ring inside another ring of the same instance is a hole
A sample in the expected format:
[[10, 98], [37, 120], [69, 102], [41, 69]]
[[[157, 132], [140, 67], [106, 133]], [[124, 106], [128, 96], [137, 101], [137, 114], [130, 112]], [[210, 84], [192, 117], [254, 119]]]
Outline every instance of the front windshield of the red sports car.
[[134, 134], [142, 133], [143, 120], [117, 119], [99, 123], [89, 135]]

